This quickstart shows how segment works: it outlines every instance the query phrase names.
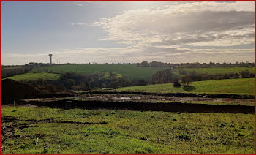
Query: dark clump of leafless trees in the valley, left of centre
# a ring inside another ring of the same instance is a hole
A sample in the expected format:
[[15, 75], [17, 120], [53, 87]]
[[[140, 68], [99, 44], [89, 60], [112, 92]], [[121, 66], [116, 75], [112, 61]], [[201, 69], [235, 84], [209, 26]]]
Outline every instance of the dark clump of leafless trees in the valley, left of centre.
[[77, 74], [75, 72], [67, 72], [61, 74], [59, 80], [36, 80], [29, 81], [34, 86], [58, 86], [61, 89], [66, 90], [91, 90], [94, 88], [118, 88], [125, 86], [142, 86], [148, 84], [148, 81], [142, 79], [126, 79], [124, 77], [118, 77], [116, 73], [111, 73], [106, 78], [104, 72], [94, 72], [87, 75]]

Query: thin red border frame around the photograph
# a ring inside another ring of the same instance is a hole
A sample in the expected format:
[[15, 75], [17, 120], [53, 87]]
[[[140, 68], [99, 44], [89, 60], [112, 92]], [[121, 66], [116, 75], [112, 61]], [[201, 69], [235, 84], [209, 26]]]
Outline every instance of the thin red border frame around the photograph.
[[[1, 2], [2, 1], [34, 1], [34, 2], [37, 2], [36, 0], [1, 0]], [[77, 0], [39, 0], [39, 1], [77, 1]], [[85, 1], [85, 0], [80, 0], [80, 1]], [[91, 1], [108, 1], [108, 0], [91, 0]], [[129, 0], [109, 0], [109, 1], [129, 1]], [[182, 0], [131, 0], [131, 1], [182, 1]], [[200, 0], [184, 0], [184, 1], [200, 1]], [[213, 0], [208, 0], [208, 1], [213, 1]], [[216, 1], [236, 1], [236, 0], [216, 0]], [[242, 1], [255, 1], [255, 0], [242, 0]], [[0, 4], [0, 11], [1, 11], [1, 4]], [[255, 16], [256, 16], [256, 12], [255, 12]], [[255, 25], [256, 25], [256, 21], [255, 21]], [[255, 28], [255, 30], [256, 30], [256, 28]], [[256, 37], [256, 34], [255, 34], [255, 37]], [[256, 61], [256, 58], [255, 58], [255, 61]], [[1, 60], [0, 60], [0, 63], [1, 63]], [[256, 69], [255, 69], [255, 71], [256, 71]], [[0, 73], [1, 73], [1, 64], [0, 64]], [[256, 82], [256, 80], [255, 80], [255, 82]], [[0, 87], [1, 87], [1, 77], [0, 77]], [[256, 87], [255, 87], [255, 91], [256, 91]], [[1, 89], [0, 89], [0, 99], [1, 99]], [[255, 99], [256, 99], [256, 97], [255, 97]], [[0, 105], [1, 105], [1, 103], [0, 103]], [[0, 110], [1, 110], [1, 106], [0, 106]], [[256, 107], [255, 107], [255, 111], [256, 111]], [[255, 121], [256, 121], [256, 117], [255, 117]], [[0, 124], [1, 124], [1, 118], [0, 118]], [[1, 131], [1, 129], [0, 129], [0, 131]], [[256, 129], [255, 129], [255, 132], [256, 132]], [[0, 135], [0, 137], [1, 137], [1, 135]], [[255, 135], [255, 139], [256, 139], [256, 135]], [[1, 145], [1, 141], [0, 141], [0, 145]], [[255, 149], [255, 152], [256, 152], [256, 149]], [[0, 154], [2, 154], [1, 151], [0, 151]], [[82, 155], [82, 154], [78, 154], [78, 155]], [[122, 154], [120, 154], [120, 155], [122, 155]], [[197, 155], [197, 154], [195, 154], [195, 155]]]

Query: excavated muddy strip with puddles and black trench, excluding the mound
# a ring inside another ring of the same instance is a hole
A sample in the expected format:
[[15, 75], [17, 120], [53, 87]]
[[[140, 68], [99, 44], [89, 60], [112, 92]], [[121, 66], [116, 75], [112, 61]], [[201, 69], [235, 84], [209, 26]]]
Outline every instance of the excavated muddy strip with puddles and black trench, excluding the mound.
[[186, 113], [254, 113], [252, 99], [213, 99], [206, 97], [165, 97], [125, 94], [80, 94], [78, 97], [24, 99], [5, 106], [51, 108], [151, 110]]

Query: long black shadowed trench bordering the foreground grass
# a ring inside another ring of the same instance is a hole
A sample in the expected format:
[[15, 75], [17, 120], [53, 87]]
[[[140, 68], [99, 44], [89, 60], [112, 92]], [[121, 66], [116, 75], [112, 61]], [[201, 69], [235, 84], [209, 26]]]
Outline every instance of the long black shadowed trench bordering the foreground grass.
[[255, 113], [254, 106], [246, 105], [207, 105], [191, 104], [181, 102], [132, 102], [132, 101], [80, 101], [80, 100], [57, 100], [51, 102], [43, 101], [22, 101], [19, 105], [52, 108], [82, 108], [82, 109], [116, 109], [116, 110], [150, 110], [165, 112], [187, 112], [187, 113]]

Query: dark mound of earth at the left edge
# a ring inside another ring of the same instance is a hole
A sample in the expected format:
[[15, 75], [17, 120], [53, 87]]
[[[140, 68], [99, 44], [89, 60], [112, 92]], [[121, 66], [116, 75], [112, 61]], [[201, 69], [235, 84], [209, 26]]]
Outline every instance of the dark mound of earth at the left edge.
[[56, 88], [34, 87], [11, 79], [1, 81], [1, 90], [3, 102], [40, 97], [70, 97], [74, 94]]

